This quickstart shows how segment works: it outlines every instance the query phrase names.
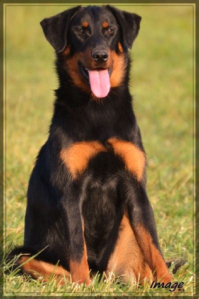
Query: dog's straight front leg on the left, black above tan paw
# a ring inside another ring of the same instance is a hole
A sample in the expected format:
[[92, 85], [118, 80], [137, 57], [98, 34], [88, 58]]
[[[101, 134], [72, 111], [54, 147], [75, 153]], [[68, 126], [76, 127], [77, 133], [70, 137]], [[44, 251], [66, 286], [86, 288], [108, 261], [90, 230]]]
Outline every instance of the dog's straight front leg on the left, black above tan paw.
[[89, 267], [80, 205], [78, 190], [75, 186], [69, 186], [61, 198], [61, 211], [69, 241], [70, 274], [72, 282], [88, 285]]

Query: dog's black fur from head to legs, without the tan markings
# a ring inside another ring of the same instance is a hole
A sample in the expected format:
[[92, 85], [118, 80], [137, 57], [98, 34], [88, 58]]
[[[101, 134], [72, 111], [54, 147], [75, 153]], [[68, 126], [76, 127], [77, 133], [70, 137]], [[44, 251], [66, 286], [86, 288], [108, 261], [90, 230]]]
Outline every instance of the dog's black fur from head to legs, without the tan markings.
[[[87, 32], [80, 37], [73, 28], [85, 15], [95, 32]], [[116, 31], [109, 38], [99, 32], [99, 23], [104, 16], [110, 23], [116, 24]], [[161, 252], [146, 193], [145, 174], [138, 182], [107, 144], [109, 138], [117, 137], [133, 143], [144, 152], [128, 87], [130, 59], [127, 48], [132, 47], [140, 20], [141, 17], [136, 14], [107, 5], [78, 6], [41, 21], [44, 34], [56, 52], [59, 88], [55, 93], [49, 137], [38, 153], [30, 176], [24, 247], [19, 248], [17, 253], [33, 255], [47, 246], [36, 259], [52, 264], [59, 260], [60, 265], [70, 270], [69, 260], [80, 261], [82, 258], [83, 217], [89, 268], [105, 271], [125, 209], [132, 228], [136, 231], [137, 225], [142, 224]], [[69, 44], [68, 57], [83, 52], [88, 46], [103, 45], [118, 53], [118, 42], [121, 42], [128, 61], [124, 80], [119, 86], [111, 88], [108, 96], [99, 103], [73, 83], [65, 68], [68, 58], [62, 52]], [[60, 151], [81, 141], [99, 141], [107, 151], [91, 158], [83, 174], [72, 179], [60, 160]]]

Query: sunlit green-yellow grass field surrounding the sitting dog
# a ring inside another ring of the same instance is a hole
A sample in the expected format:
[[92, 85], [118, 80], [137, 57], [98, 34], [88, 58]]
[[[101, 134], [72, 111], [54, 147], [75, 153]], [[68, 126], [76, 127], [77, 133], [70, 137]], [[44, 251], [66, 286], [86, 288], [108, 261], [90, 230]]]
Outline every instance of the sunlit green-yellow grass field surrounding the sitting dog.
[[[54, 54], [39, 21], [66, 6], [6, 7], [6, 211], [7, 252], [23, 242], [28, 178], [47, 139], [57, 87]], [[123, 6], [142, 18], [133, 46], [131, 92], [148, 155], [148, 194], [166, 258], [187, 258], [175, 275], [193, 292], [193, 8]], [[4, 255], [5, 259], [5, 255]], [[146, 285], [113, 279], [91, 286], [57, 286], [14, 276], [5, 278], [4, 295], [158, 295]], [[25, 294], [21, 294], [25, 292]], [[87, 292], [87, 293], [84, 293]], [[165, 290], [159, 291], [165, 292]], [[38, 294], [36, 294], [38, 293]], [[135, 294], [136, 293], [136, 294]], [[167, 291], [172, 296], [172, 293]], [[167, 295], [165, 294], [165, 296]], [[181, 296], [181, 295], [179, 295]]]

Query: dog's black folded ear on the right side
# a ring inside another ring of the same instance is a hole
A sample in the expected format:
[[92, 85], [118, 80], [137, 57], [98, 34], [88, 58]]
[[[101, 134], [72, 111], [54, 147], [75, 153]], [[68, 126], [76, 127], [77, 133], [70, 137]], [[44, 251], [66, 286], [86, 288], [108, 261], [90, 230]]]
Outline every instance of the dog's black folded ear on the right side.
[[106, 7], [113, 13], [120, 26], [124, 45], [131, 49], [140, 29], [141, 16], [110, 5]]

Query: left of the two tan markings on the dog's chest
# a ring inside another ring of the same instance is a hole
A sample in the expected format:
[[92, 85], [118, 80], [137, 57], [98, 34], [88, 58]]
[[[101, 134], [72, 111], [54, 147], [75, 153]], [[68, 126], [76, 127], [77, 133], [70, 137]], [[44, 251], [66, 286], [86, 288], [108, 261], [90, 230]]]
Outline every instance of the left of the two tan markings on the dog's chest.
[[68, 149], [62, 149], [60, 158], [68, 167], [73, 178], [76, 178], [87, 167], [89, 160], [106, 148], [97, 141], [79, 142]]

